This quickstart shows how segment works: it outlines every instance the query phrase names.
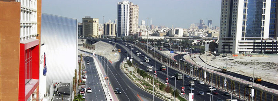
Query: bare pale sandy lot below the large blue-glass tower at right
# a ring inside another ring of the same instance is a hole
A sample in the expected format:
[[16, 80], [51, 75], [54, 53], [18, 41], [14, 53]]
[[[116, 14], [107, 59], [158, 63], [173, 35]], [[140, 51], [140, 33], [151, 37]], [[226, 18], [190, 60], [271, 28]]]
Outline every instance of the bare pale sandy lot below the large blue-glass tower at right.
[[[254, 77], [261, 77], [262, 80], [278, 84], [278, 55], [238, 55], [238, 57], [229, 55], [231, 56], [227, 61], [228, 71], [252, 77], [255, 64]], [[201, 58], [205, 61], [205, 54], [202, 54]], [[226, 58], [221, 55], [207, 56], [207, 63], [218, 68], [226, 67]]]

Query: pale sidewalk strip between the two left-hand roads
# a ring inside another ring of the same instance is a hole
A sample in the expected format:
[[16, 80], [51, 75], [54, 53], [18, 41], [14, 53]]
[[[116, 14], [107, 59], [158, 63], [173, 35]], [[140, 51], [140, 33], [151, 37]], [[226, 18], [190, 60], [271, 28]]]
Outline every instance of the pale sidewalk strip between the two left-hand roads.
[[[93, 57], [93, 58], [94, 58], [94, 62], [95, 62], [95, 67], [96, 67], [96, 69], [99, 73], [99, 79], [100, 79], [100, 82], [102, 84], [102, 88], [103, 88], [104, 93], [106, 95], [107, 101], [110, 101], [111, 99], [112, 99], [112, 101], [119, 101], [116, 94], [113, 93], [114, 91], [113, 91], [112, 86], [108, 86], [108, 93], [107, 93], [107, 86], [106, 86], [107, 80], [105, 79], [105, 77], [103, 75], [103, 74], [105, 74], [105, 71], [102, 68], [102, 65], [100, 64], [99, 60], [96, 59], [96, 57]], [[108, 80], [108, 82], [110, 82], [110, 81]]]

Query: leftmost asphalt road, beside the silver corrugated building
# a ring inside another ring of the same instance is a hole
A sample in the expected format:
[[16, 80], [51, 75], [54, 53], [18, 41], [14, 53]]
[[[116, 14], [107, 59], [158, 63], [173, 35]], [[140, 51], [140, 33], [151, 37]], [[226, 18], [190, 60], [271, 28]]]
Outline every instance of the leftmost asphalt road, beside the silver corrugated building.
[[[86, 64], [87, 60], [89, 64]], [[92, 93], [86, 93], [86, 101], [106, 101], [93, 58], [84, 56], [84, 61], [86, 64], [84, 70], [87, 71], [86, 88], [92, 89]]]

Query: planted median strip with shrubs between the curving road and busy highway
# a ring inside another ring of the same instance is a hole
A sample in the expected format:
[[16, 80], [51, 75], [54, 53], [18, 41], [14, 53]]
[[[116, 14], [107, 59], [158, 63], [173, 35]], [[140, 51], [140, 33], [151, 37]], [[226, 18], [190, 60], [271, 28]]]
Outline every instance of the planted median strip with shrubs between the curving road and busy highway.
[[[121, 64], [121, 69], [127, 76], [140, 88], [146, 90], [149, 93], [153, 93], [153, 75], [152, 73], [146, 72], [137, 68], [138, 64], [133, 64], [131, 61], [124, 61]], [[133, 70], [132, 70], [133, 69]], [[133, 71], [133, 73], [131, 72]], [[167, 101], [174, 100], [174, 90], [169, 85], [160, 82], [157, 77], [154, 78], [154, 95], [160, 97], [161, 99]], [[176, 101], [186, 101], [181, 96], [179, 96], [179, 91], [176, 90]]]

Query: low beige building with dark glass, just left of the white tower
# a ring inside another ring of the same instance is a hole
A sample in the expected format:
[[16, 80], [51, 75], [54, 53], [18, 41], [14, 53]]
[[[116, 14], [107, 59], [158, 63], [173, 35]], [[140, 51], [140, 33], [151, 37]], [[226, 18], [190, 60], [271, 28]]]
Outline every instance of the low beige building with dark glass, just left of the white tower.
[[117, 24], [115, 23], [112, 23], [112, 22], [106, 22], [104, 24], [104, 28], [103, 28], [103, 31], [104, 31], [104, 35], [106, 36], [115, 36], [116, 35], [116, 30], [117, 28]]

